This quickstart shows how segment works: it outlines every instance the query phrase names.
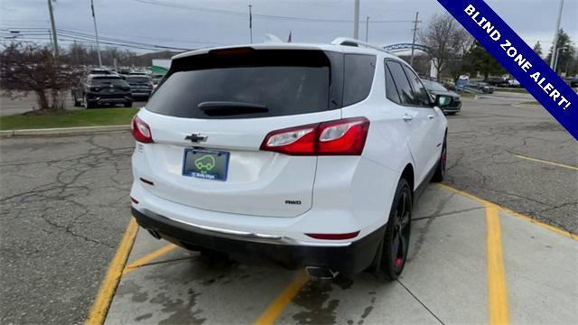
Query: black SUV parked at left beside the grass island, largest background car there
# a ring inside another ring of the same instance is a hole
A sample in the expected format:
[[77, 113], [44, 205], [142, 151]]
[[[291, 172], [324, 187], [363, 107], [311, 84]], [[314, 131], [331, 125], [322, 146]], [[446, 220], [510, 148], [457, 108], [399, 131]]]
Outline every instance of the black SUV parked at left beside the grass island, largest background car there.
[[133, 106], [130, 86], [117, 75], [89, 74], [77, 88], [73, 88], [74, 106], [93, 108], [102, 105]]

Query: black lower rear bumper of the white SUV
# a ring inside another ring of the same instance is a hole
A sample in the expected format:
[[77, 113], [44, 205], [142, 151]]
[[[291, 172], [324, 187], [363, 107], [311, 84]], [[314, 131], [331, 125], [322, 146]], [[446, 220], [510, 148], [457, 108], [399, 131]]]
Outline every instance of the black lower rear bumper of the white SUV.
[[[277, 238], [223, 234], [207, 228], [166, 218], [151, 211], [132, 208], [136, 222], [160, 237], [188, 249], [208, 248], [227, 253], [240, 262], [274, 264], [295, 269], [303, 266], [328, 267], [341, 274], [359, 274], [371, 265], [385, 226], [346, 245], [307, 246], [287, 244]], [[329, 245], [329, 244], [328, 244]]]

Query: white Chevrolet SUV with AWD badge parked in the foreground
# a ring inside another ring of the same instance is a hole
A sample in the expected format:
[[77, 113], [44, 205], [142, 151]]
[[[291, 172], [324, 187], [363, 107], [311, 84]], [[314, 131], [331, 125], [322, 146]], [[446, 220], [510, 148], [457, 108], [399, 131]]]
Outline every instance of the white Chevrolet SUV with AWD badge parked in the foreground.
[[133, 216], [204, 253], [395, 279], [415, 198], [443, 179], [449, 100], [348, 39], [179, 54], [132, 123]]

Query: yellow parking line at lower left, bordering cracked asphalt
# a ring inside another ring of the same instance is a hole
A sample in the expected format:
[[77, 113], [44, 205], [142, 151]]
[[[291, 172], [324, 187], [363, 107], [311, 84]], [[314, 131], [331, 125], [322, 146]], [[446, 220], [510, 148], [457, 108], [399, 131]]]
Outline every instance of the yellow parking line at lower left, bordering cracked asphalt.
[[90, 308], [89, 317], [86, 320], [87, 325], [104, 323], [110, 302], [112, 302], [115, 296], [120, 277], [123, 274], [126, 259], [135, 243], [137, 231], [138, 225], [136, 225], [135, 218], [131, 217], [126, 227], [125, 235], [123, 235], [120, 245], [117, 248], [117, 253], [115, 253], [112, 262], [108, 266], [107, 275], [102, 284], [100, 284], [97, 299], [92, 304], [92, 308]]

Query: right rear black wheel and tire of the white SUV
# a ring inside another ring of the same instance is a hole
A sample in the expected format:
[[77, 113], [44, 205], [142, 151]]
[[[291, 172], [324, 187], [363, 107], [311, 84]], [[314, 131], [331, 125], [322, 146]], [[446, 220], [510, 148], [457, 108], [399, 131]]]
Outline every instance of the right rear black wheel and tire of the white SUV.
[[412, 226], [412, 191], [405, 179], [397, 183], [396, 195], [389, 212], [386, 233], [378, 249], [378, 274], [388, 281], [396, 280], [406, 266]]

